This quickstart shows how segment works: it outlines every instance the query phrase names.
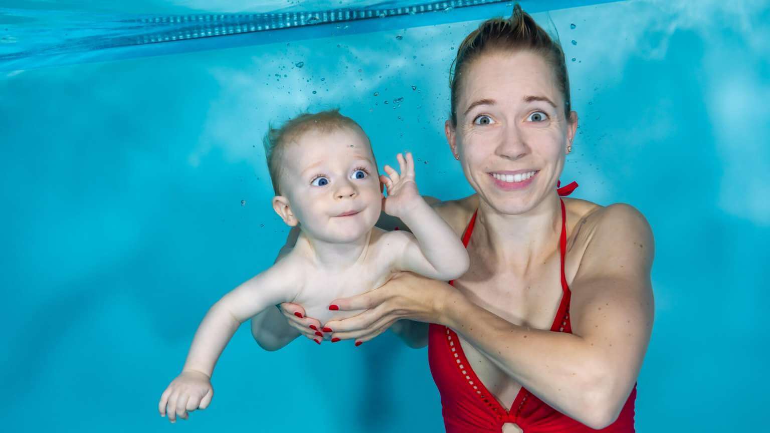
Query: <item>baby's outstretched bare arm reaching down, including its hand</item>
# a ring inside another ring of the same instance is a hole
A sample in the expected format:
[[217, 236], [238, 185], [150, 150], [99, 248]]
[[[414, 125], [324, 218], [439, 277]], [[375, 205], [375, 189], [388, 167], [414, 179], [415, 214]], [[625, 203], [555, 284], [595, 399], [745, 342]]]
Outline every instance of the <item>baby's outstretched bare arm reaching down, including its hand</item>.
[[219, 355], [239, 325], [268, 305], [293, 299], [299, 287], [295, 278], [299, 270], [282, 260], [226, 294], [209, 308], [192, 340], [182, 373], [163, 392], [158, 409], [160, 415], [186, 418], [188, 411], [206, 408], [213, 396], [211, 375]]

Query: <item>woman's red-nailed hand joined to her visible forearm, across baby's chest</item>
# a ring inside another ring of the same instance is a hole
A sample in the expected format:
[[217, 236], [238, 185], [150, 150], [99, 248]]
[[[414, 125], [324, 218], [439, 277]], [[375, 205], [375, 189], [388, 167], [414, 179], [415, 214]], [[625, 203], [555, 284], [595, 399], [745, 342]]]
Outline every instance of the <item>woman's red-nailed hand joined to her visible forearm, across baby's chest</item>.
[[[399, 319], [440, 324], [444, 307], [457, 301], [460, 293], [444, 281], [430, 280], [417, 274], [397, 274], [382, 287], [367, 293], [334, 300], [339, 310], [366, 310], [357, 316], [329, 321], [331, 337], [355, 339], [356, 345], [370, 341]], [[334, 309], [334, 307], [330, 307]]]

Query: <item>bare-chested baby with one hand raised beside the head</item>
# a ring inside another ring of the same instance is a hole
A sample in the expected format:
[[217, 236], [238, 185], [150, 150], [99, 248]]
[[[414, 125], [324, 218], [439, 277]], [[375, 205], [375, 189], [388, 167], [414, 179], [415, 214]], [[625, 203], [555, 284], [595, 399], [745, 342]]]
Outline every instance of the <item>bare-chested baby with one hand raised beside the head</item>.
[[[168, 408], [172, 422], [209, 405], [219, 355], [239, 325], [266, 307], [301, 304], [323, 323], [340, 317], [330, 311], [330, 300], [380, 287], [399, 271], [454, 280], [468, 267], [457, 235], [417, 192], [410, 153], [398, 154], [400, 173], [385, 166], [387, 176], [377, 176], [363, 129], [337, 110], [297, 116], [271, 129], [265, 141], [273, 210], [287, 225], [299, 226], [300, 235], [293, 250], [203, 317], [182, 373], [160, 398], [160, 414]], [[381, 211], [400, 218], [413, 234], [374, 227]]]

